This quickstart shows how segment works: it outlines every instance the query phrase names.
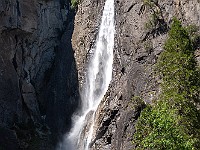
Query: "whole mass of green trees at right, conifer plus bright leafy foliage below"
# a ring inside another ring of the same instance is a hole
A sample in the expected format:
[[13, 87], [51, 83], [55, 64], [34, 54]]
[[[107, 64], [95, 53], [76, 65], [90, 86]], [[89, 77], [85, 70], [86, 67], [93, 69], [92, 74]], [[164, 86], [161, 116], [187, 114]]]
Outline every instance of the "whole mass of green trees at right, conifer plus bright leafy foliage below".
[[200, 72], [196, 67], [191, 37], [174, 19], [157, 63], [162, 92], [153, 106], [148, 105], [136, 124], [136, 149], [200, 149]]

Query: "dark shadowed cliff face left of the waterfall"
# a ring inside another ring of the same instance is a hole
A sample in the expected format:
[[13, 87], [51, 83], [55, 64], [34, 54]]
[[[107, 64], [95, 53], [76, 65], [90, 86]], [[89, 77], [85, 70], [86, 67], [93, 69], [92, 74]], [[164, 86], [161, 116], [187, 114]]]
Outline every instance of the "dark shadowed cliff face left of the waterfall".
[[73, 20], [68, 0], [1, 0], [0, 149], [34, 149], [28, 143], [56, 142], [70, 127], [79, 100]]

